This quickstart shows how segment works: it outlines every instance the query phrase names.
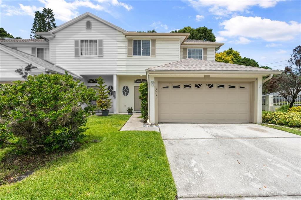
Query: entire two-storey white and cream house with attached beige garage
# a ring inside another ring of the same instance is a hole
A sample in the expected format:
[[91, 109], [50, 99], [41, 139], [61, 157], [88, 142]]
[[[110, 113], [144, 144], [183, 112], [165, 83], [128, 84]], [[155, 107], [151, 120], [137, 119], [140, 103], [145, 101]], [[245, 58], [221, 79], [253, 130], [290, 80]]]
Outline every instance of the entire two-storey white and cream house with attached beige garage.
[[[139, 112], [138, 87], [147, 81], [151, 123], [260, 123], [262, 76], [278, 73], [215, 62], [224, 43], [188, 40], [190, 33], [128, 32], [91, 13], [37, 34], [45, 40], [0, 43], [79, 74], [88, 87], [102, 76], [113, 113], [126, 113], [128, 107]], [[16, 58], [6, 68], [20, 68]]]

